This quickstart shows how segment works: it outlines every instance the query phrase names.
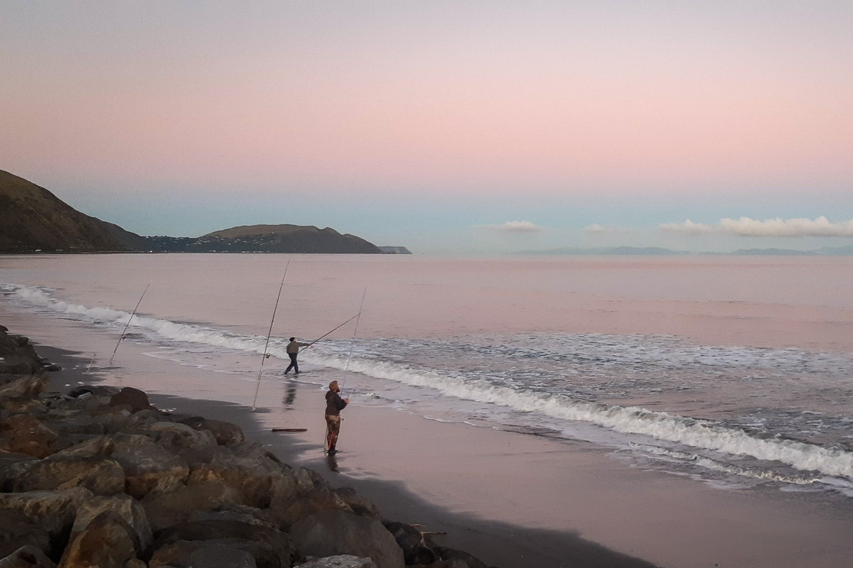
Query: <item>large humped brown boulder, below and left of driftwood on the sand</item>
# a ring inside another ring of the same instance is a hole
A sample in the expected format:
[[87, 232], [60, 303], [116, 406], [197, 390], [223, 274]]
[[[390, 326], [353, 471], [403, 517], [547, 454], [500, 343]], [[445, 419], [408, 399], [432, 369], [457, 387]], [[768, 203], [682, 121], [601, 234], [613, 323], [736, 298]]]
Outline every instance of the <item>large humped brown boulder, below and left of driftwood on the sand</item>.
[[206, 465], [194, 468], [189, 485], [219, 481], [243, 492], [246, 504], [268, 508], [275, 499], [289, 502], [297, 495], [293, 470], [258, 445], [217, 446]]

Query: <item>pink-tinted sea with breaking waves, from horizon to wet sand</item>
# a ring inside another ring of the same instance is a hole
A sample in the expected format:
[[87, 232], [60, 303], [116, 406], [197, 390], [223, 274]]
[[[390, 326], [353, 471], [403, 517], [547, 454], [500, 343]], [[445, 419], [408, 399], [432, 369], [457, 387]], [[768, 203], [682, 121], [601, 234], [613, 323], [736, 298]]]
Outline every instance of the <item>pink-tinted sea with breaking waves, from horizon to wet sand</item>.
[[118, 337], [150, 282], [129, 339], [247, 381], [288, 261], [265, 381], [282, 338], [322, 336], [364, 295], [300, 381], [719, 485], [853, 496], [853, 258], [4, 256], [0, 301]]

